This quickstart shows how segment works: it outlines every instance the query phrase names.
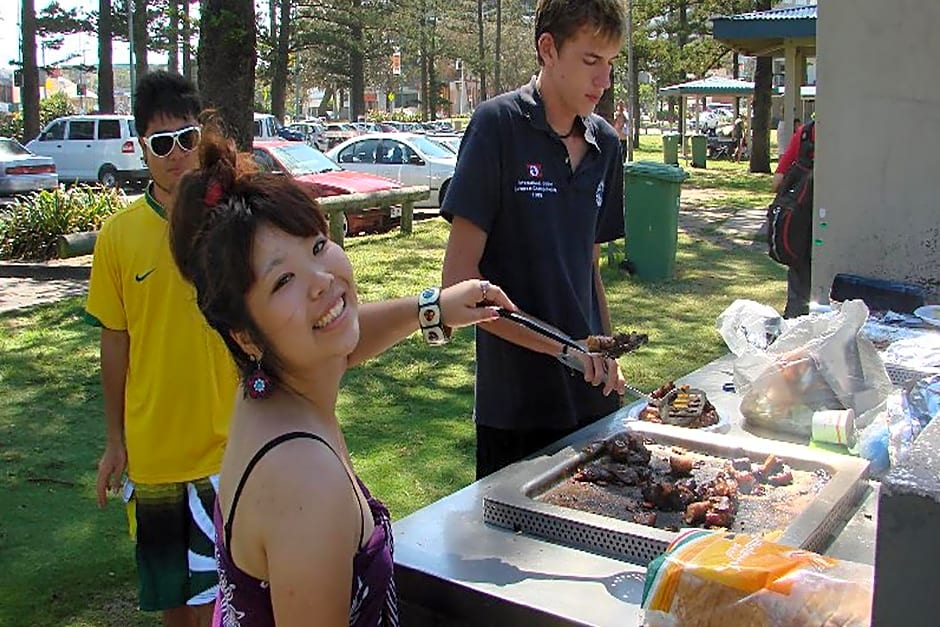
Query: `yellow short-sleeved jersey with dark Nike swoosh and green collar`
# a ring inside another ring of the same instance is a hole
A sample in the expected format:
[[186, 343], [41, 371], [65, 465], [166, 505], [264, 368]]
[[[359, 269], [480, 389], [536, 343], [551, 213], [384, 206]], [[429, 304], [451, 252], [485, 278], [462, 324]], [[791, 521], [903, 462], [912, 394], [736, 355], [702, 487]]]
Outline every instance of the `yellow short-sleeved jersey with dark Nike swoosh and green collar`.
[[95, 244], [87, 314], [130, 335], [124, 389], [128, 476], [174, 483], [215, 474], [238, 376], [228, 349], [196, 306], [149, 191], [111, 216]]

